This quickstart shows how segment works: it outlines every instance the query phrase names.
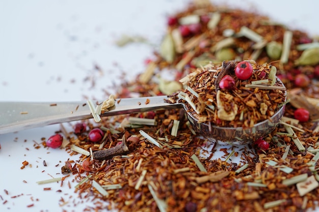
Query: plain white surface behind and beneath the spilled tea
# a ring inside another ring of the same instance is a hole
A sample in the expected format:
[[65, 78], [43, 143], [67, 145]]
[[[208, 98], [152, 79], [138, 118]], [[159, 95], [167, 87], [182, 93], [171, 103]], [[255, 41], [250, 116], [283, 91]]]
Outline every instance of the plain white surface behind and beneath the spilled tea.
[[[114, 41], [123, 34], [143, 35], [158, 46], [166, 28], [165, 17], [184, 8], [183, 2], [0, 0], [0, 101], [83, 100], [83, 95], [104, 98], [102, 89], [113, 87], [122, 72], [127, 79], [142, 72], [144, 59], [153, 51], [146, 44], [117, 48]], [[317, 1], [227, 3], [257, 9], [274, 20], [319, 35]], [[95, 64], [103, 75], [94, 69]], [[93, 88], [84, 81], [89, 76], [95, 78]], [[84, 202], [74, 207], [74, 202], [82, 200], [67, 186], [72, 176], [63, 187], [36, 184], [49, 179], [49, 174], [61, 176], [61, 166], [69, 158], [64, 150], [33, 146], [33, 140], [40, 143], [41, 137], [49, 137], [56, 130], [59, 126], [0, 135], [0, 211], [82, 211], [90, 205]], [[24, 160], [32, 167], [20, 170]], [[51, 191], [43, 191], [46, 187]], [[59, 189], [61, 193], [56, 192]], [[60, 207], [61, 197], [70, 203]], [[5, 200], [8, 202], [3, 204]], [[27, 208], [29, 204], [34, 206]]]

